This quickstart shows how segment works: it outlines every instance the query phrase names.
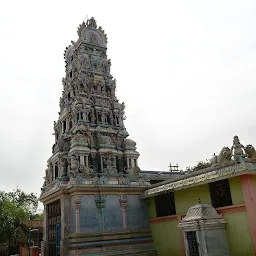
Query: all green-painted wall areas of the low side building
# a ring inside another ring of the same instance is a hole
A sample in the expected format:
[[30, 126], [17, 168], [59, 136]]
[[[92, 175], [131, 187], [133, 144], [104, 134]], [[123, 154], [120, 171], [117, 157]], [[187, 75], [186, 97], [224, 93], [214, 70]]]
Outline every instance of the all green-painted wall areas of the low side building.
[[[256, 176], [254, 181], [256, 185]], [[233, 204], [244, 203], [240, 178], [229, 179], [229, 184]], [[202, 203], [211, 204], [209, 184], [174, 191], [176, 213], [185, 214], [189, 207], [198, 203], [198, 197]], [[150, 198], [150, 216], [151, 218], [156, 217], [154, 198]], [[225, 214], [224, 218], [227, 220], [230, 254], [232, 256], [254, 255], [246, 212]], [[181, 255], [180, 233], [177, 225], [178, 221], [176, 220], [151, 224], [153, 239], [159, 256]]]

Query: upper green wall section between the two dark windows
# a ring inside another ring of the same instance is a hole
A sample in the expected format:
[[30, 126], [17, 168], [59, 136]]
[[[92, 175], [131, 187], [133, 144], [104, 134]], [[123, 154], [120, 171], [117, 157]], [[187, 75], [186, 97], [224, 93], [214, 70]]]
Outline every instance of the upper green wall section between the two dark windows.
[[202, 204], [211, 204], [209, 185], [174, 191], [176, 213], [187, 213], [189, 207], [198, 203], [200, 197]]

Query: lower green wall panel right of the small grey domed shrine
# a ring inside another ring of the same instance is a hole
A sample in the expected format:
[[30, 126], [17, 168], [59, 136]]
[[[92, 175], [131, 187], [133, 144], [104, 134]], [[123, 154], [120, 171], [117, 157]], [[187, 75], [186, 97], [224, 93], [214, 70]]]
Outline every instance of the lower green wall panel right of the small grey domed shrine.
[[246, 212], [224, 214], [227, 220], [227, 239], [230, 255], [253, 256], [253, 244], [250, 236]]

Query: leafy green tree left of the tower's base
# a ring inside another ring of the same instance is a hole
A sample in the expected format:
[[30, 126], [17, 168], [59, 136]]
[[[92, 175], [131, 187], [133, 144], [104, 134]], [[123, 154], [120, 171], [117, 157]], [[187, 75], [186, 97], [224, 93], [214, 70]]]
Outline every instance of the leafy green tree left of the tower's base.
[[0, 191], [0, 244], [24, 244], [28, 228], [20, 222], [35, 213], [38, 199], [20, 189], [5, 193]]

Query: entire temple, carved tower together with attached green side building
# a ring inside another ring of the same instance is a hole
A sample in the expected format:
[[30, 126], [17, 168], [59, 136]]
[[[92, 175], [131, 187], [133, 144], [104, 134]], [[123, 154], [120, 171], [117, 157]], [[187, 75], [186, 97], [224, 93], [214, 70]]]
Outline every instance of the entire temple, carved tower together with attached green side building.
[[234, 136], [207, 165], [141, 171], [94, 18], [64, 53], [40, 196], [44, 256], [256, 255], [256, 150]]

